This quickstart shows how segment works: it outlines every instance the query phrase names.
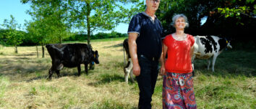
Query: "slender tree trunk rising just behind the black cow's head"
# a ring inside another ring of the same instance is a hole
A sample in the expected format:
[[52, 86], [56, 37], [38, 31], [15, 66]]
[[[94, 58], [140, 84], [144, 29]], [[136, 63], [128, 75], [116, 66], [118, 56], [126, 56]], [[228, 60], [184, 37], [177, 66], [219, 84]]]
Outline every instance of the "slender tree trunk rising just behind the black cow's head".
[[86, 14], [86, 21], [87, 21], [87, 43], [88, 45], [90, 45], [90, 3], [86, 2], [86, 6], [87, 6], [87, 14]]

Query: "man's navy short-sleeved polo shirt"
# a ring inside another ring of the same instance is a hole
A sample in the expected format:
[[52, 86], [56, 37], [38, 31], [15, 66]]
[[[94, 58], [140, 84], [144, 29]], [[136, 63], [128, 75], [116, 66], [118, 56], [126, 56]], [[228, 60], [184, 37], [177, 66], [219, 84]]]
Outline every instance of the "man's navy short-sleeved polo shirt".
[[155, 17], [151, 19], [144, 11], [132, 17], [129, 23], [128, 34], [135, 32], [138, 34], [137, 54], [143, 54], [146, 57], [161, 57], [163, 37], [163, 27], [161, 22]]

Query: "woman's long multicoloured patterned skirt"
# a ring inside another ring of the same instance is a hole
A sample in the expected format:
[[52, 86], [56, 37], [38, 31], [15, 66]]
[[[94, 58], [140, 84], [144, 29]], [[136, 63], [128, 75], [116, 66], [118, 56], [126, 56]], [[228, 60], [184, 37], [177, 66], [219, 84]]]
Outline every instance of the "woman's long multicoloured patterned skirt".
[[167, 72], [163, 76], [163, 109], [195, 109], [192, 73]]

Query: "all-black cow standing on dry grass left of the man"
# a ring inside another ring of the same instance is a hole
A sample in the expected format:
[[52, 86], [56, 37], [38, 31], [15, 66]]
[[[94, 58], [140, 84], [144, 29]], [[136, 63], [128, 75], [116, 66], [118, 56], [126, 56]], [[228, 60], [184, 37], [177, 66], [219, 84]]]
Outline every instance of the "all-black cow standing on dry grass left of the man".
[[48, 79], [54, 72], [60, 77], [59, 70], [63, 67], [77, 67], [78, 75], [81, 72], [81, 64], [85, 65], [85, 72], [88, 74], [88, 64], [98, 61], [98, 51], [93, 51], [88, 44], [47, 44], [46, 48], [51, 56], [51, 69]]

